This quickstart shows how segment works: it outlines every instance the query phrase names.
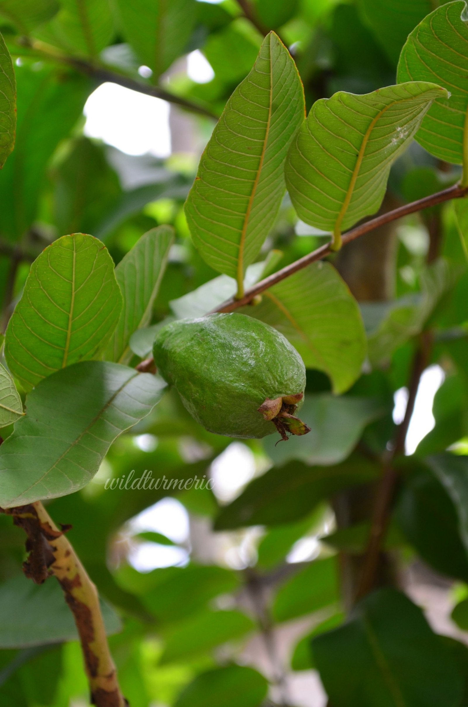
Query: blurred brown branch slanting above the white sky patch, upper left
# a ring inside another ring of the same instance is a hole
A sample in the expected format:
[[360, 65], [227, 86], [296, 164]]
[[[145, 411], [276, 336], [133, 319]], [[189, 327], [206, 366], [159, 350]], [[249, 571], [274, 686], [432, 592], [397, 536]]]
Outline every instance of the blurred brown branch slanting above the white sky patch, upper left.
[[187, 98], [182, 98], [182, 96], [170, 93], [170, 91], [165, 88], [160, 88], [160, 86], [151, 86], [150, 83], [143, 83], [142, 81], [136, 81], [135, 78], [124, 76], [124, 74], [118, 74], [117, 71], [111, 71], [110, 69], [106, 69], [103, 66], [98, 66], [92, 62], [86, 62], [84, 59], [69, 57], [67, 54], [62, 54], [62, 52], [59, 52], [58, 49], [55, 49], [55, 47], [52, 47], [51, 45], [47, 45], [45, 42], [33, 40], [30, 37], [20, 37], [18, 42], [23, 47], [33, 49], [37, 53], [37, 56], [42, 57], [42, 59], [52, 59], [60, 64], [71, 66], [72, 69], [76, 69], [76, 71], [79, 71], [81, 74], [94, 78], [99, 83], [105, 83], [105, 81], [117, 83], [118, 86], [124, 86], [124, 88], [130, 88], [131, 90], [136, 90], [138, 93], [144, 93], [145, 95], [151, 95], [153, 98], [161, 98], [162, 100], [168, 101], [168, 103], [178, 105], [179, 107], [189, 110], [192, 113], [197, 113], [197, 115], [204, 115], [205, 117], [213, 120], [218, 120], [219, 118], [219, 116], [209, 108], [193, 103]]

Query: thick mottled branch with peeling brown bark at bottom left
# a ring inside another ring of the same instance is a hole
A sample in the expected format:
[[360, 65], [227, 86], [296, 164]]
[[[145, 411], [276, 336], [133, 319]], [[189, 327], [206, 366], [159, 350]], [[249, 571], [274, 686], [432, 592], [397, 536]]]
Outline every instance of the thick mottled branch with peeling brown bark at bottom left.
[[54, 576], [62, 587], [80, 636], [91, 703], [96, 707], [126, 707], [107, 645], [98, 591], [64, 535], [68, 529], [59, 530], [40, 501], [0, 510], [13, 516], [15, 525], [28, 535], [25, 575], [36, 584]]

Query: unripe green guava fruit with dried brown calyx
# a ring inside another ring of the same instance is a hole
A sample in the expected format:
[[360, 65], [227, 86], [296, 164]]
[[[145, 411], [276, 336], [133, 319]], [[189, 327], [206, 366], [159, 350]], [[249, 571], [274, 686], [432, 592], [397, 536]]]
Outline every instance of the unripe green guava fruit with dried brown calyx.
[[294, 416], [302, 404], [305, 367], [283, 334], [242, 314], [179, 320], [160, 329], [153, 346], [160, 375], [210, 432], [281, 438], [309, 428]]

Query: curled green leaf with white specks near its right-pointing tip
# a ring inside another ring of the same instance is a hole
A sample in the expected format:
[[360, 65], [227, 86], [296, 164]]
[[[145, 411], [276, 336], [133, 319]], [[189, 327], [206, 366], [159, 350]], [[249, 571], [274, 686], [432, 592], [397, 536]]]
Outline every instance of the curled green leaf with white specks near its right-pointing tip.
[[286, 160], [286, 185], [298, 216], [339, 233], [375, 214], [392, 163], [433, 100], [446, 97], [445, 89], [420, 81], [317, 100]]

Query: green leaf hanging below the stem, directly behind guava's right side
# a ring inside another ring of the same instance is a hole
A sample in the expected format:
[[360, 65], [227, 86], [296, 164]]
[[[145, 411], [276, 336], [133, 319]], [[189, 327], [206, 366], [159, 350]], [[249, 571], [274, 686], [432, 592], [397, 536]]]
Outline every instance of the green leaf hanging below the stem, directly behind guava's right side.
[[358, 303], [329, 263], [312, 263], [240, 310], [278, 329], [296, 347], [305, 368], [317, 368], [335, 393], [361, 375], [366, 346]]

